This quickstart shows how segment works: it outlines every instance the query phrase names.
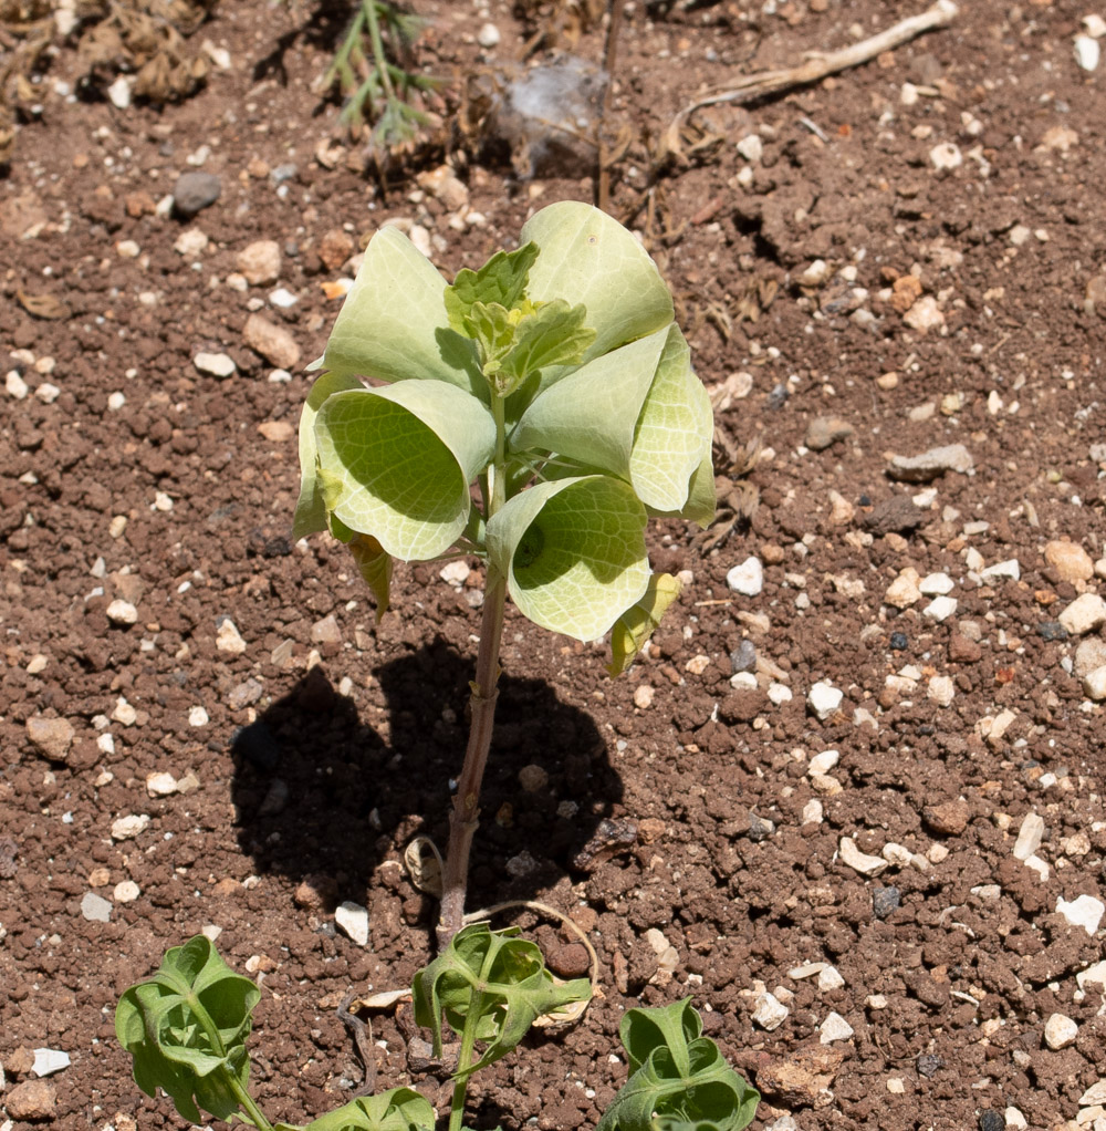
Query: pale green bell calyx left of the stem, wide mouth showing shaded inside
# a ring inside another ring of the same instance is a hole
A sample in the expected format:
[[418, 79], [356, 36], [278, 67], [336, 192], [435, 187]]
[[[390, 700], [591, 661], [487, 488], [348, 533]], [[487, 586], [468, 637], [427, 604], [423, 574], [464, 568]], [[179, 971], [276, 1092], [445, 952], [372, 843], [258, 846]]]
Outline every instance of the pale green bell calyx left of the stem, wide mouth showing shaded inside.
[[439, 381], [334, 394], [314, 434], [327, 510], [403, 561], [453, 544], [469, 519], [468, 485], [495, 450], [487, 408]]

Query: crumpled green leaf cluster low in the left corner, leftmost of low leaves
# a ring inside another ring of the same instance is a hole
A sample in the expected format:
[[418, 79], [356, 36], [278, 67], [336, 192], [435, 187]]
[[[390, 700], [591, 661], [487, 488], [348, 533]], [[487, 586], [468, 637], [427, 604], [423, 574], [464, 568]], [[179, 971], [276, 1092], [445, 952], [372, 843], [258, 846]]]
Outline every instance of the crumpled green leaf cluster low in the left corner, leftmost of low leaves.
[[147, 1096], [161, 1087], [176, 1111], [200, 1122], [239, 1113], [230, 1086], [244, 1090], [245, 1039], [261, 992], [219, 958], [205, 935], [166, 951], [157, 973], [131, 986], [115, 1009], [115, 1034], [133, 1057], [135, 1082]]

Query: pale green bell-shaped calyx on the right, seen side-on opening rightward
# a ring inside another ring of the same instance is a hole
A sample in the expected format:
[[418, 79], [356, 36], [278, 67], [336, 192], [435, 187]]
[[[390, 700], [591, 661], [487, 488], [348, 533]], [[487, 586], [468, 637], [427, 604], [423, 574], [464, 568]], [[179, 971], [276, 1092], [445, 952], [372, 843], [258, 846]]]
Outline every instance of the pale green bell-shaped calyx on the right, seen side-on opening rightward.
[[684, 511], [692, 477], [709, 463], [711, 434], [710, 399], [673, 323], [546, 388], [512, 431], [511, 448], [611, 472], [653, 510], [701, 520], [701, 507]]

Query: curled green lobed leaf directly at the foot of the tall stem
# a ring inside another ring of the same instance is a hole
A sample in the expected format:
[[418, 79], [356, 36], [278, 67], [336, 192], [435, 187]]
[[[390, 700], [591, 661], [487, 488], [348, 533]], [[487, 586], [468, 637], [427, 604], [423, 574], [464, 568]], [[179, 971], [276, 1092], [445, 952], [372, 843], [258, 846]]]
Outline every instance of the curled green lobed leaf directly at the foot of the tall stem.
[[485, 1044], [483, 1055], [459, 1069], [455, 1080], [506, 1056], [536, 1018], [591, 996], [587, 978], [556, 983], [542, 951], [519, 939], [518, 927], [492, 931], [486, 923], [458, 931], [446, 951], [415, 975], [413, 990], [415, 1021], [433, 1034], [435, 1056], [443, 1016], [455, 1033], [472, 1026]]

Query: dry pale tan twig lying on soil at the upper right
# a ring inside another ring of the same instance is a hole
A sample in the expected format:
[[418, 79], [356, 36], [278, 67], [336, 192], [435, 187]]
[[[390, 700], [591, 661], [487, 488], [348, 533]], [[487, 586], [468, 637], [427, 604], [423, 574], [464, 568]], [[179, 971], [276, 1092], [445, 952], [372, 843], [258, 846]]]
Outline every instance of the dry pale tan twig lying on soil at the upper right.
[[681, 131], [688, 119], [702, 106], [716, 106], [726, 102], [749, 102], [752, 98], [778, 94], [793, 86], [816, 83], [819, 79], [826, 78], [827, 75], [847, 70], [849, 67], [857, 67], [884, 51], [891, 51], [923, 32], [928, 32], [934, 27], [944, 27], [952, 21], [957, 11], [953, 0], [936, 0], [936, 3], [921, 15], [899, 20], [898, 24], [893, 24], [878, 35], [854, 43], [849, 48], [844, 48], [840, 51], [809, 52], [806, 62], [798, 67], [742, 75], [727, 83], [725, 87], [717, 87], [684, 106], [665, 131], [664, 148], [675, 157], [683, 156]]

